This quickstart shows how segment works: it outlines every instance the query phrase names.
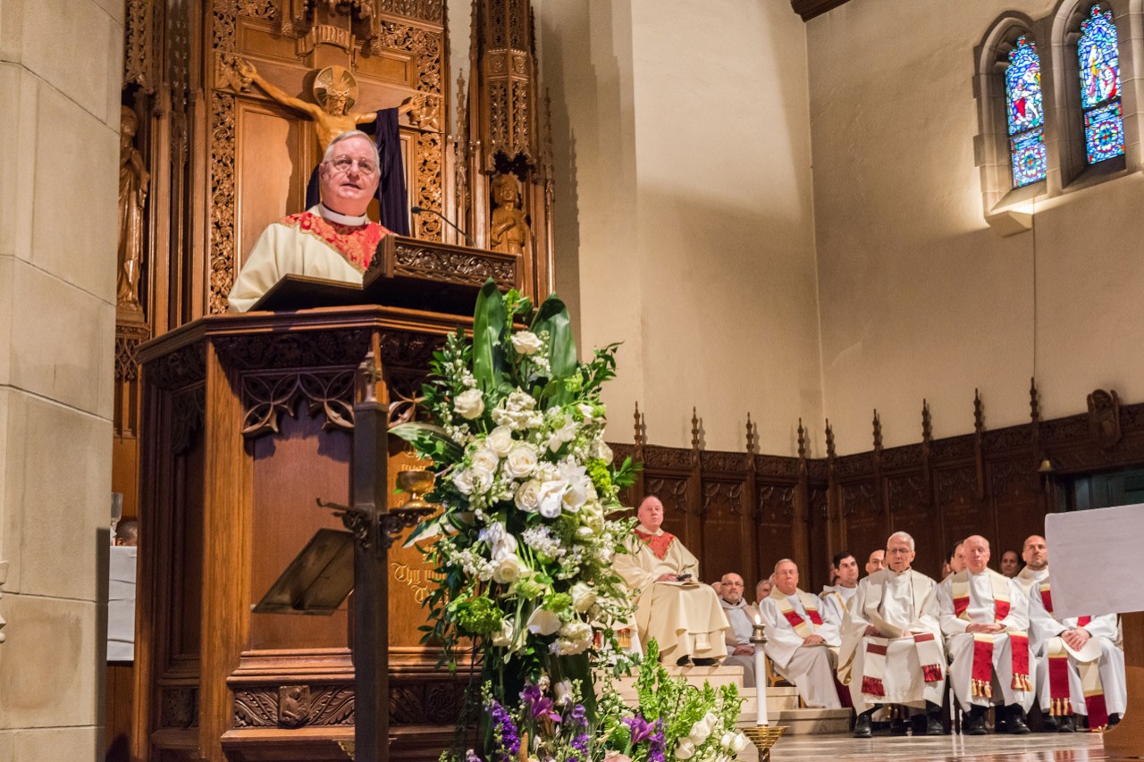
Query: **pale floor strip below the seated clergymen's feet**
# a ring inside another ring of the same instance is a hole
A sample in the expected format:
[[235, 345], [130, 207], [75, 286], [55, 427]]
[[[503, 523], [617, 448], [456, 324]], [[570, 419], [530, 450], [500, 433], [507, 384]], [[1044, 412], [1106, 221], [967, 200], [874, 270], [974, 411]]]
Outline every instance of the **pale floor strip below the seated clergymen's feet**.
[[[1144, 753], [1144, 752], [1142, 752]], [[792, 736], [778, 740], [772, 762], [1114, 762], [1099, 736], [936, 736], [857, 739], [849, 735]]]

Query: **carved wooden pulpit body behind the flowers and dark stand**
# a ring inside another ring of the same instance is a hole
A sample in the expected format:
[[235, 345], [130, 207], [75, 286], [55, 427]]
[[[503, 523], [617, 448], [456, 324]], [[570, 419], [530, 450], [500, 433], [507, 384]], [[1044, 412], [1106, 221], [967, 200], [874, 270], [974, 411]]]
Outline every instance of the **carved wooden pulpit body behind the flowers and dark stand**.
[[[392, 307], [207, 317], [144, 346], [134, 760], [345, 760], [353, 737], [347, 608], [252, 605], [349, 502], [353, 380], [372, 351], [408, 412], [444, 336], [471, 318]], [[390, 445], [390, 479], [412, 459]], [[392, 492], [392, 490], [390, 490]], [[400, 502], [398, 497], [391, 503]], [[394, 759], [436, 760], [468, 675], [420, 645], [430, 569], [390, 556]]]

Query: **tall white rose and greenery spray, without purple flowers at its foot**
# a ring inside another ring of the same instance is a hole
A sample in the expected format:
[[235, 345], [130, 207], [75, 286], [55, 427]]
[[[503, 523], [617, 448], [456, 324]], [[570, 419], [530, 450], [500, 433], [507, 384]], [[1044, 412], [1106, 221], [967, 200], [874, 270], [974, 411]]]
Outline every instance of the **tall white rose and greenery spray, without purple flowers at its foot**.
[[579, 680], [591, 711], [590, 667], [623, 658], [614, 630], [631, 604], [611, 562], [630, 533], [618, 494], [633, 467], [613, 467], [599, 400], [617, 347], [579, 362], [557, 296], [533, 309], [490, 280], [471, 342], [458, 332], [434, 357], [431, 421], [391, 431], [438, 474], [428, 497], [443, 510], [411, 537], [436, 535], [424, 640], [453, 667], [471, 638], [501, 703], [550, 676]]

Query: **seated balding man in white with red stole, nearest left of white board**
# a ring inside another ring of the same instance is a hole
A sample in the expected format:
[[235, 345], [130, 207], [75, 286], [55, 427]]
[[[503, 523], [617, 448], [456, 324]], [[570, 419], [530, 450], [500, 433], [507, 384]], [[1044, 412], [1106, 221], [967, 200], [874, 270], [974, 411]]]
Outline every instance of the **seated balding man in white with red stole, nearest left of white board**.
[[1033, 705], [1030, 680], [1028, 598], [1016, 580], [988, 567], [990, 543], [975, 534], [961, 551], [966, 569], [938, 585], [937, 602], [950, 683], [968, 736], [985, 733], [985, 712], [1004, 706], [1008, 732], [1027, 733], [1024, 713]]

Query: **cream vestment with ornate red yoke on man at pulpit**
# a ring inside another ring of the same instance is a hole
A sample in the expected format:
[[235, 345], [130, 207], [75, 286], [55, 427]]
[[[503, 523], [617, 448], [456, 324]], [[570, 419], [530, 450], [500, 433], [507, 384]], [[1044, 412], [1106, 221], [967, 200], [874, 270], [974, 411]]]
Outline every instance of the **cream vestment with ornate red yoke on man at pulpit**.
[[389, 231], [368, 217], [350, 217], [318, 205], [262, 231], [235, 278], [232, 312], [254, 307], [286, 275], [362, 285], [378, 244]]

